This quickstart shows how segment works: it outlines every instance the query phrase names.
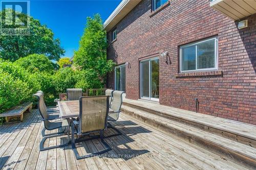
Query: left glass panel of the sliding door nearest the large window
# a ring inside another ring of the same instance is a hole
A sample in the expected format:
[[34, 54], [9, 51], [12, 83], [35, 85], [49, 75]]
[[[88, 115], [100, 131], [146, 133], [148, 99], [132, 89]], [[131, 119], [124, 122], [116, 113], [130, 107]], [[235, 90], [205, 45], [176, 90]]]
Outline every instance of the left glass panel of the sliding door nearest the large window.
[[150, 98], [150, 75], [149, 75], [149, 62], [141, 62], [141, 93], [143, 98]]

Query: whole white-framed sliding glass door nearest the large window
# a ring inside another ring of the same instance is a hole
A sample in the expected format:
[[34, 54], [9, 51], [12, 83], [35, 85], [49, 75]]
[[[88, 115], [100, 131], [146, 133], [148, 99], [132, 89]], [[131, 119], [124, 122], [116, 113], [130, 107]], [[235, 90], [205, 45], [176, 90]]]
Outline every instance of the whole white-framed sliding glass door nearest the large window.
[[140, 97], [159, 101], [159, 59], [152, 58], [140, 62]]

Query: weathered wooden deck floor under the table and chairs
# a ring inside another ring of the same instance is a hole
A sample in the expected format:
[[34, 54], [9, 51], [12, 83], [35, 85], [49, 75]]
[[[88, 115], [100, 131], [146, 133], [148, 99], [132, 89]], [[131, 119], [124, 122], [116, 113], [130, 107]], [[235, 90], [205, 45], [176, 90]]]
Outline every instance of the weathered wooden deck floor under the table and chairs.
[[[123, 135], [106, 139], [112, 151], [76, 160], [71, 146], [39, 152], [44, 125], [33, 110], [24, 115], [24, 122], [0, 127], [0, 169], [246, 169], [125, 114], [115, 126]], [[47, 145], [67, 139], [55, 137]], [[98, 139], [79, 145], [81, 155], [103, 149]]]

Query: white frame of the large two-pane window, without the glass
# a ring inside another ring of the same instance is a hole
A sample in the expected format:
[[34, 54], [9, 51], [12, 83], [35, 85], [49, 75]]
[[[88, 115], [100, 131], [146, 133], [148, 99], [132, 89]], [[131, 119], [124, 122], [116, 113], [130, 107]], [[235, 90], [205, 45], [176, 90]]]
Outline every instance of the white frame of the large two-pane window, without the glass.
[[[213, 68], [197, 68], [197, 45], [206, 41], [211, 41], [211, 40], [215, 40], [215, 67]], [[194, 70], [182, 70], [182, 48], [184, 47], [189, 47], [189, 46], [195, 46], [196, 45], [196, 69]], [[217, 70], [218, 69], [218, 37], [214, 37], [214, 38], [209, 38], [206, 40], [202, 40], [202, 41], [198, 41], [195, 43], [190, 43], [187, 45], [182, 45], [180, 46], [180, 72], [195, 72], [195, 71], [207, 71], [207, 70]]]

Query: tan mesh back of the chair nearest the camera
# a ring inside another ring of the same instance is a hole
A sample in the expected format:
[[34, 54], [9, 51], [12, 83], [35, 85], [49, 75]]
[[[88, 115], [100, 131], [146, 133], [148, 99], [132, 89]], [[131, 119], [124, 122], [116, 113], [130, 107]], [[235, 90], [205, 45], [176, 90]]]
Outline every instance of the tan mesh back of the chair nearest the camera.
[[109, 96], [81, 97], [79, 106], [79, 134], [106, 128], [109, 114]]

